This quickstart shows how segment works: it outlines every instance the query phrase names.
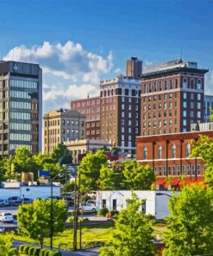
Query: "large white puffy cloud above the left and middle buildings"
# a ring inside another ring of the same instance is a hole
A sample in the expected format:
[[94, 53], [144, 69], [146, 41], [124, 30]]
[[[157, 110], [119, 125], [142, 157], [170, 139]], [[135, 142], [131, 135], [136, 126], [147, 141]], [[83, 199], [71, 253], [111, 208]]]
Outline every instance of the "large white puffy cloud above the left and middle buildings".
[[43, 71], [43, 112], [69, 106], [71, 99], [99, 93], [99, 80], [110, 74], [113, 56], [92, 53], [79, 43], [53, 44], [13, 48], [3, 57], [5, 61], [26, 61], [40, 64]]

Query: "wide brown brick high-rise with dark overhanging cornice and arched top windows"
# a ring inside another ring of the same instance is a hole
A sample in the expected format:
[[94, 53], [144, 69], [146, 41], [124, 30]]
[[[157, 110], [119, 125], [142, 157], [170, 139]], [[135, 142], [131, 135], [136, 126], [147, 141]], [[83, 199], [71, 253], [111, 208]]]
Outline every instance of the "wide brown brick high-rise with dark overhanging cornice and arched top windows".
[[168, 61], [141, 75], [141, 136], [191, 131], [204, 122], [204, 74], [197, 62]]

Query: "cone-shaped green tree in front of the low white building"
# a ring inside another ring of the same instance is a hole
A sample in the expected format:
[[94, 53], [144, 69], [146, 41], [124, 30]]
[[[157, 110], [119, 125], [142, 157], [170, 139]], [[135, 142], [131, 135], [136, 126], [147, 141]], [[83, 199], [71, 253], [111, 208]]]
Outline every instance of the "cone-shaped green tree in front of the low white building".
[[153, 222], [139, 211], [143, 202], [135, 194], [127, 202], [128, 208], [118, 214], [110, 241], [101, 247], [100, 256], [154, 255]]

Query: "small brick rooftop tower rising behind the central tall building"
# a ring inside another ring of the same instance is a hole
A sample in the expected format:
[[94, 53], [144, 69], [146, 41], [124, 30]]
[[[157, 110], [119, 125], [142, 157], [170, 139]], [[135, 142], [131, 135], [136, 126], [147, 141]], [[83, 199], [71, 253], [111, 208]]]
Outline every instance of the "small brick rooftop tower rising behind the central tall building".
[[132, 79], [140, 80], [142, 74], [142, 61], [137, 57], [131, 57], [126, 64], [126, 75]]

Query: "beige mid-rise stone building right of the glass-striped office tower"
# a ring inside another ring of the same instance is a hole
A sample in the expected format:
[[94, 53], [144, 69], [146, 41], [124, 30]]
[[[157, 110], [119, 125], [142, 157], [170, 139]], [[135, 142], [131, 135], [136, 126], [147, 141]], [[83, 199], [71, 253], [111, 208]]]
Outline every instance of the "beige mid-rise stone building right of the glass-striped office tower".
[[44, 115], [43, 150], [50, 154], [57, 144], [85, 138], [85, 116], [80, 112], [60, 109]]

